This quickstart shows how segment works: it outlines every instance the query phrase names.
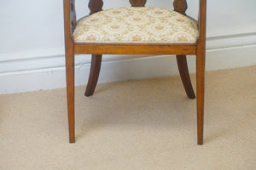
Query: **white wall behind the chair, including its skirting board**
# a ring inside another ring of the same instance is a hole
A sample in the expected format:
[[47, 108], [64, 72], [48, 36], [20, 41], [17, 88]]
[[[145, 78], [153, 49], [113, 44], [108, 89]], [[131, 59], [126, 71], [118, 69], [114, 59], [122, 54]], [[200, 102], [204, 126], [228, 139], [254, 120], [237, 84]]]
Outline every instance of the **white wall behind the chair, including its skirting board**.
[[[88, 0], [76, 0], [77, 14], [89, 13]], [[187, 14], [197, 18], [198, 0]], [[0, 3], [0, 94], [65, 87], [62, 0], [12, 0]], [[130, 6], [105, 0], [104, 8]], [[171, 0], [147, 6], [172, 8]], [[208, 0], [207, 71], [255, 65], [256, 1]], [[76, 83], [85, 84], [90, 56], [77, 55]], [[191, 72], [195, 58], [189, 57]], [[105, 55], [99, 82], [177, 74], [174, 57]], [[87, 81], [87, 80], [86, 80]]]

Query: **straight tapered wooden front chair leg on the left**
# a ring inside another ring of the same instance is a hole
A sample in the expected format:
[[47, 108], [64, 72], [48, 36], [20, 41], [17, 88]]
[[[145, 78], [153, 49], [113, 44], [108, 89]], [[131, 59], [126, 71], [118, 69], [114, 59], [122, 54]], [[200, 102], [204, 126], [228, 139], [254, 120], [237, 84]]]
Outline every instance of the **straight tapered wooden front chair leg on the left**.
[[67, 78], [67, 114], [69, 142], [75, 142], [74, 122], [74, 54], [73, 50], [66, 50], [66, 78]]

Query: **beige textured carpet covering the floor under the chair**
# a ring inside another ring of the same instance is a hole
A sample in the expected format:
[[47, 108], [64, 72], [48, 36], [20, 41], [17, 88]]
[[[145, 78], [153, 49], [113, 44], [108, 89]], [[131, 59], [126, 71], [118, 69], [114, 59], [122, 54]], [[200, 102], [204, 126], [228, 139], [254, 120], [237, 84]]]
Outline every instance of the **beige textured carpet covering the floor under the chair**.
[[179, 77], [76, 88], [75, 144], [65, 90], [0, 96], [0, 170], [256, 169], [256, 66], [207, 73], [202, 146]]

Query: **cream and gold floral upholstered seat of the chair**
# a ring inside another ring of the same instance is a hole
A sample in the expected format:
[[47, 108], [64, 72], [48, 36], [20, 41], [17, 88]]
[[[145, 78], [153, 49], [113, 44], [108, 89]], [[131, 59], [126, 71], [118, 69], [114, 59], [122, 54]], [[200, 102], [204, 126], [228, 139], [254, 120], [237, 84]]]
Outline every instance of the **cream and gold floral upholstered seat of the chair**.
[[164, 8], [111, 8], [80, 20], [75, 42], [189, 43], [198, 38], [195, 22]]

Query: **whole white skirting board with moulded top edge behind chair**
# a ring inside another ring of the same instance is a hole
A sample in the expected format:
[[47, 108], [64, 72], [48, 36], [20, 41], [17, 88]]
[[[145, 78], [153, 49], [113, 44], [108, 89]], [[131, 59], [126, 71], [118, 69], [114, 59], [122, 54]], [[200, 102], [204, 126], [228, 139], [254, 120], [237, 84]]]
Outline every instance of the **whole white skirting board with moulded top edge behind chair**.
[[[188, 56], [195, 73], [195, 56]], [[207, 71], [256, 65], [256, 32], [207, 37]], [[90, 55], [76, 56], [76, 86], [87, 82]], [[175, 56], [103, 55], [99, 83], [177, 75]], [[0, 94], [65, 88], [63, 49], [0, 55]]]

